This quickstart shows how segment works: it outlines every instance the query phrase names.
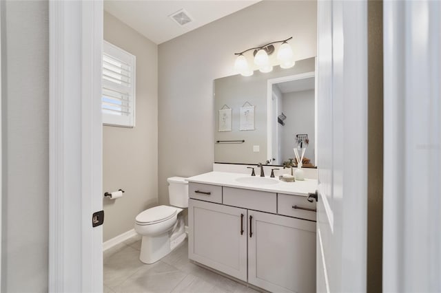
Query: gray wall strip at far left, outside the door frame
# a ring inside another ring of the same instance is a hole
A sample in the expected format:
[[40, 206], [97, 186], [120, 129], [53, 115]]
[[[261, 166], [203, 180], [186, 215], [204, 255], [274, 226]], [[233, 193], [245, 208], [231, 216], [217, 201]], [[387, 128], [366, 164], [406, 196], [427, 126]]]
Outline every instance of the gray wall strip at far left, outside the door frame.
[[48, 1], [1, 5], [1, 292], [47, 292]]

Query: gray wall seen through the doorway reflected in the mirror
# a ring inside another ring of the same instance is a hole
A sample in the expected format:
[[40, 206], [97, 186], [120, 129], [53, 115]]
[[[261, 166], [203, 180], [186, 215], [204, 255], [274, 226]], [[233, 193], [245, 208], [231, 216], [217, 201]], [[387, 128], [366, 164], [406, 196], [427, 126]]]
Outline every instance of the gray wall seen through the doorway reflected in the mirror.
[[282, 127], [283, 161], [287, 161], [288, 158], [295, 158], [293, 148], [297, 146], [295, 142], [296, 134], [305, 133], [309, 138], [305, 157], [311, 160], [311, 164], [315, 165], [316, 122], [314, 121], [314, 109], [314, 89], [283, 94], [283, 113], [287, 116], [287, 119], [284, 121], [285, 126]]

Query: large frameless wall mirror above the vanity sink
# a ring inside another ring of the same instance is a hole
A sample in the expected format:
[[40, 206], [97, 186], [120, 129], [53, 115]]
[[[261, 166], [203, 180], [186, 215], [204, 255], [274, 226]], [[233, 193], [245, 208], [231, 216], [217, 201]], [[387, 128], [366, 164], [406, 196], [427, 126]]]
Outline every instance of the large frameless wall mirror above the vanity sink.
[[[305, 147], [316, 166], [315, 58], [214, 80], [214, 162], [283, 165]], [[305, 162], [305, 161], [304, 161]]]

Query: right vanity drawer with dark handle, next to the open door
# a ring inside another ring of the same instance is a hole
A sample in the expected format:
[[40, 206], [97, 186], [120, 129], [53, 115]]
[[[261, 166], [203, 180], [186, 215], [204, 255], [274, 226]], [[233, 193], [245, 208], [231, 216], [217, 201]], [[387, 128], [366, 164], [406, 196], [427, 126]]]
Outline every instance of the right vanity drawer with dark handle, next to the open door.
[[[307, 197], [278, 193], [277, 213], [289, 217], [316, 221], [316, 202], [308, 202]], [[297, 208], [294, 208], [296, 206]], [[308, 208], [310, 210], [303, 210]]]

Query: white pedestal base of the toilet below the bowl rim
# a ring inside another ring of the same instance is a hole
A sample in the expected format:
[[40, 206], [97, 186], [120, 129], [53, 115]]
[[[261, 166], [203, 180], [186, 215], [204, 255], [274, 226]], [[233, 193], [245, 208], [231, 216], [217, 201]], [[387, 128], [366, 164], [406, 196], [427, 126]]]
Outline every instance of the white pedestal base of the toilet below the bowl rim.
[[179, 215], [172, 230], [154, 237], [143, 236], [139, 260], [148, 264], [156, 263], [179, 246], [186, 237], [184, 219]]

